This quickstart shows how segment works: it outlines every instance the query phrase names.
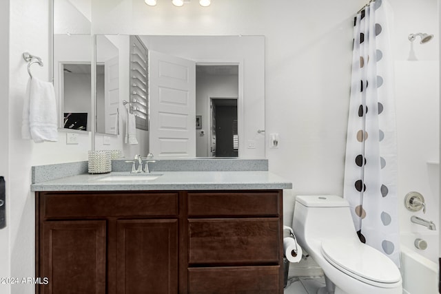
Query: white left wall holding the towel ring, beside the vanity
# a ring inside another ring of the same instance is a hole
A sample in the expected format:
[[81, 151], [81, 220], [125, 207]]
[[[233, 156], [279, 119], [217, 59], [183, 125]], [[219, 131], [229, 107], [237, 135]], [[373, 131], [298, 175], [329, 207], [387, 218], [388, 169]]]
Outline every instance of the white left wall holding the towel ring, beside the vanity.
[[[2, 3], [2, 10], [4, 9]], [[21, 139], [21, 112], [23, 95], [28, 81], [27, 64], [21, 54], [29, 51], [48, 61], [48, 1], [10, 1], [9, 39], [9, 230], [10, 230], [10, 276], [34, 276], [34, 195], [30, 193], [30, 167], [44, 162], [42, 149], [52, 149], [48, 161], [70, 160], [61, 144], [35, 145]], [[32, 74], [48, 81], [48, 67], [32, 66]], [[13, 285], [11, 293], [33, 293], [33, 285]]]

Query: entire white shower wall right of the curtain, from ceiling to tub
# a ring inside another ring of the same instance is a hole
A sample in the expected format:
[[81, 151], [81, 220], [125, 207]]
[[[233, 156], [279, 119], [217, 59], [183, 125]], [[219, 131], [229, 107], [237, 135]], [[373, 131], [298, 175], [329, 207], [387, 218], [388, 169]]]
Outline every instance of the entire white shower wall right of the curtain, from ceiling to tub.
[[[391, 36], [395, 57], [396, 110], [398, 142], [398, 204], [400, 231], [426, 232], [412, 224], [413, 215], [433, 220], [439, 227], [439, 162], [440, 151], [440, 73], [438, 1], [419, 2], [389, 0], [394, 12], [394, 34]], [[411, 33], [433, 34], [433, 40], [420, 44], [410, 42]], [[408, 61], [413, 47], [415, 61]], [[410, 191], [422, 193], [427, 213], [411, 212], [404, 207]], [[432, 244], [433, 246], [434, 244]]]

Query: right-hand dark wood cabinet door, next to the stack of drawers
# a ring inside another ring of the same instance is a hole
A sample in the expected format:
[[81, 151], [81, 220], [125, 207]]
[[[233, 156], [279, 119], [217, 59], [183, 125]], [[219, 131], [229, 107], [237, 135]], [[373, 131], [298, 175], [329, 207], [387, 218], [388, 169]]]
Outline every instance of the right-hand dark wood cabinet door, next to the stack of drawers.
[[178, 220], [119, 220], [117, 293], [178, 293]]

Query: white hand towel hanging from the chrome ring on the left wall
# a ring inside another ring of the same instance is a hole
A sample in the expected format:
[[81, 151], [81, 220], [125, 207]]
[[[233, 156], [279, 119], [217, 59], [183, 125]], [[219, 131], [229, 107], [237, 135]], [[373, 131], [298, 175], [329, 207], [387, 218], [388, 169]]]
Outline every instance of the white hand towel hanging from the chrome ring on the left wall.
[[52, 83], [30, 78], [23, 104], [23, 139], [57, 142], [57, 101]]

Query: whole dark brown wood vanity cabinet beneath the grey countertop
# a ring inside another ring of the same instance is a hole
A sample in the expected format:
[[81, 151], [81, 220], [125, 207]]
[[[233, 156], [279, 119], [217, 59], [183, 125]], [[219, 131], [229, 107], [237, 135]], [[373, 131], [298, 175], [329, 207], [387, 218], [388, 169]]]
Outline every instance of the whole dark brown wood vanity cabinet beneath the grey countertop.
[[37, 294], [283, 293], [280, 190], [36, 197]]

